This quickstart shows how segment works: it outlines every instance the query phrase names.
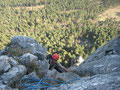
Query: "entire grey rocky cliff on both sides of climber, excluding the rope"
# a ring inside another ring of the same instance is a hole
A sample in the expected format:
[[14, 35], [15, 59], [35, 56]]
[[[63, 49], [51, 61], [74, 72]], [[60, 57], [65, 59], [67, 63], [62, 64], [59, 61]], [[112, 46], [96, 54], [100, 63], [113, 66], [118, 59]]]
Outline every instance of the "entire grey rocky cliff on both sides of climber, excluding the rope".
[[[15, 36], [0, 51], [0, 89], [20, 90], [23, 77], [57, 80], [79, 80], [48, 88], [48, 90], [119, 90], [120, 89], [120, 36], [97, 49], [70, 72], [58, 73], [48, 70], [47, 49], [30, 37]], [[52, 82], [50, 82], [52, 83]]]

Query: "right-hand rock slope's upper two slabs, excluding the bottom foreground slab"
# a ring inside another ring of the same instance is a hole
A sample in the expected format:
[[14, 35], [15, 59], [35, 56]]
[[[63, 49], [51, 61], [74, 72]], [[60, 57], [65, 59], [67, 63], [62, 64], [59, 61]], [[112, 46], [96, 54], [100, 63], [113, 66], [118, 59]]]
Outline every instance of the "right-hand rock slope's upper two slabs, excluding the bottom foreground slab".
[[120, 72], [120, 36], [97, 49], [74, 71], [80, 76]]

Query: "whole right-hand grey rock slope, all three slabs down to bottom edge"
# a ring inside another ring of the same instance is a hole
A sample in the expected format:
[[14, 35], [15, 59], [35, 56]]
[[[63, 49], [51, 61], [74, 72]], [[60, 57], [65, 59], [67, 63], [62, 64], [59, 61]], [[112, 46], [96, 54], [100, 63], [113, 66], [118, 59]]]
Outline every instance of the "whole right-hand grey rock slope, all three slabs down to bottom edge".
[[81, 78], [48, 90], [120, 90], [120, 36], [97, 49], [73, 72]]

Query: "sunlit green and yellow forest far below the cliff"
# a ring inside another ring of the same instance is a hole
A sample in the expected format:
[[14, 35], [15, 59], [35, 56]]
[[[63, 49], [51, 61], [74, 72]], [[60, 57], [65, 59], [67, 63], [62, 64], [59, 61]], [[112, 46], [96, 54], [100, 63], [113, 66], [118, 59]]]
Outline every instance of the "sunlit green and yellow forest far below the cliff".
[[[0, 0], [0, 50], [13, 36], [36, 39], [58, 53], [70, 66], [78, 56], [84, 59], [120, 34], [120, 20], [98, 15], [120, 6], [120, 0]], [[117, 13], [120, 17], [120, 12]]]

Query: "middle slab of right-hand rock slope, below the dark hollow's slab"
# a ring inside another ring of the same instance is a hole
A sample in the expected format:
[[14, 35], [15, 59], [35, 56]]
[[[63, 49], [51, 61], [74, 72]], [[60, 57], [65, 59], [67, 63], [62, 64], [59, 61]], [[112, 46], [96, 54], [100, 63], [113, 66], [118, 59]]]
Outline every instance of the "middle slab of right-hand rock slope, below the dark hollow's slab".
[[111, 72], [120, 72], [120, 56], [104, 56], [99, 60], [81, 64], [73, 70], [80, 76], [92, 76], [95, 74], [106, 74]]

